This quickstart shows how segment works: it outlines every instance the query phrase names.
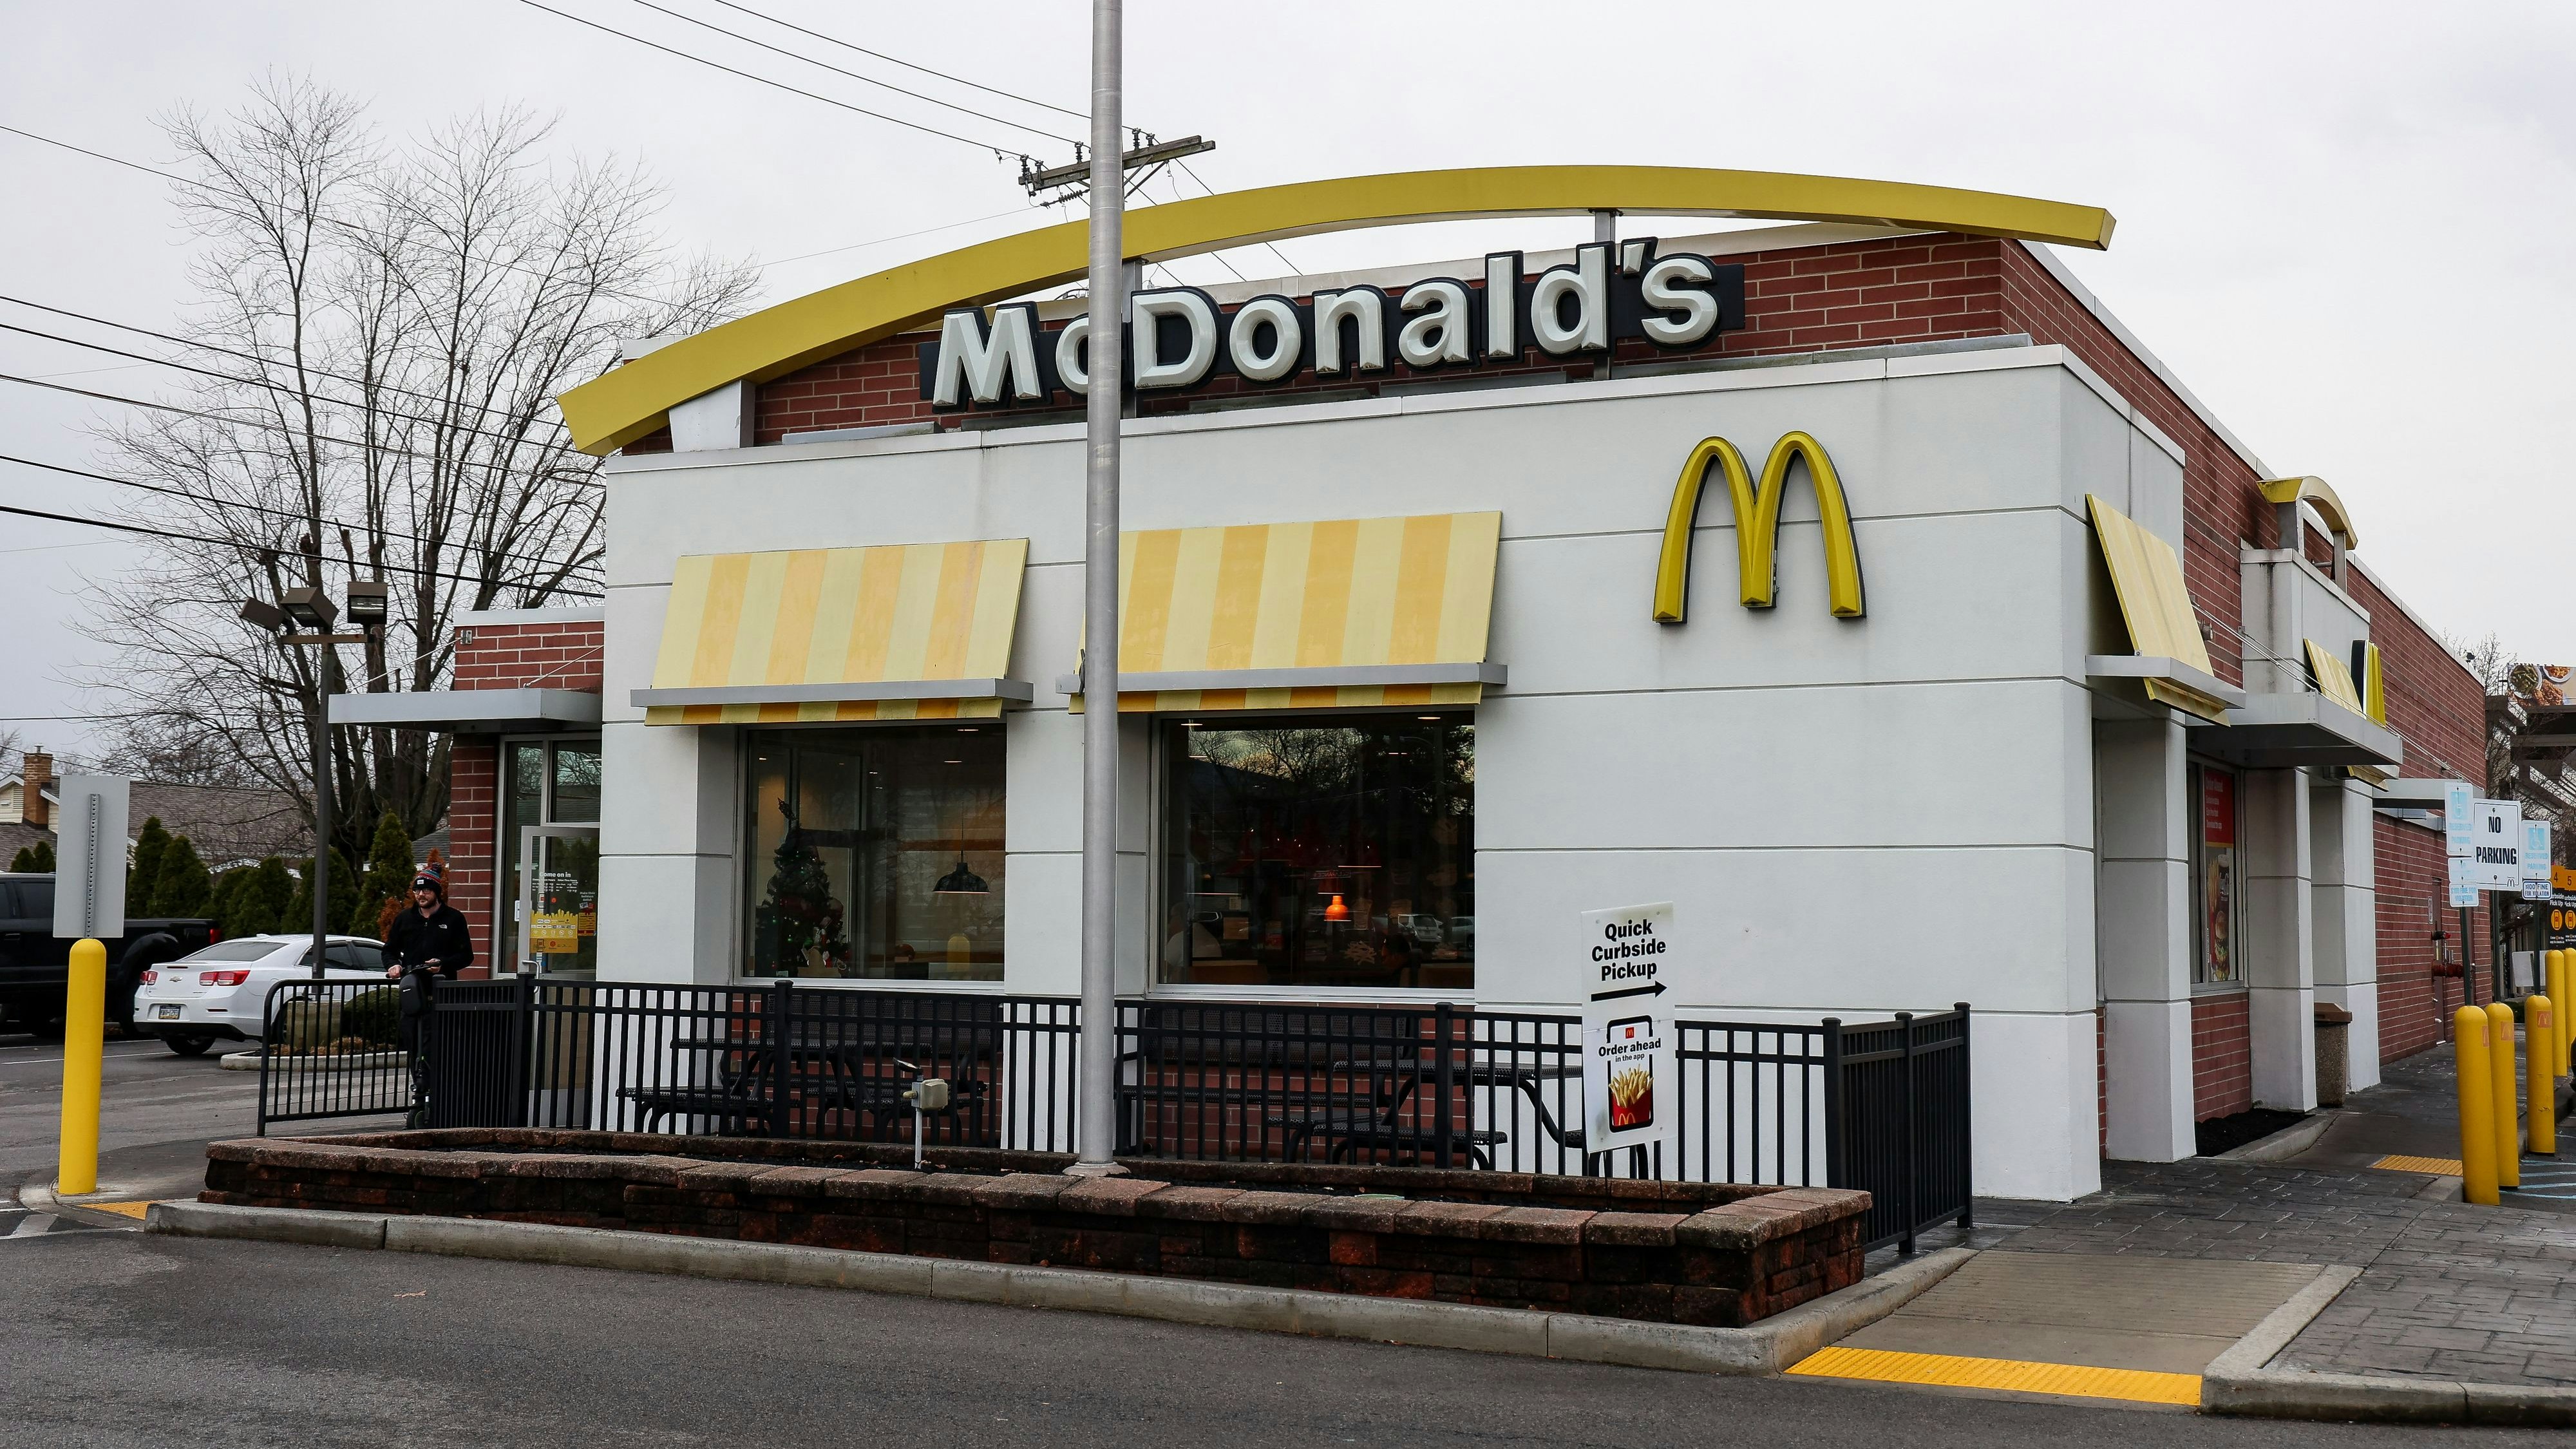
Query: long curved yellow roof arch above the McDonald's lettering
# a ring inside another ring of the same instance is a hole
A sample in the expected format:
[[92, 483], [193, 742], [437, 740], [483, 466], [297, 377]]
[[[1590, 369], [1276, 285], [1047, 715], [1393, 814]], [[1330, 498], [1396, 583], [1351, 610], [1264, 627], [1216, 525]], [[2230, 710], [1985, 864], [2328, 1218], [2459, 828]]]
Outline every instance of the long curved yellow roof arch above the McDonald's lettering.
[[[1589, 211], [1860, 222], [2094, 250], [2110, 245], [2112, 229], [2110, 211], [2099, 206], [1901, 180], [1669, 165], [1497, 165], [1298, 180], [1141, 206], [1126, 214], [1126, 253], [1175, 260], [1319, 232]], [[1087, 271], [1087, 232], [1084, 219], [979, 242], [708, 327], [564, 392], [564, 423], [587, 454], [621, 449], [659, 428], [675, 402], [701, 392], [737, 379], [768, 382], [935, 322], [951, 307], [981, 307], [1072, 281]]]

